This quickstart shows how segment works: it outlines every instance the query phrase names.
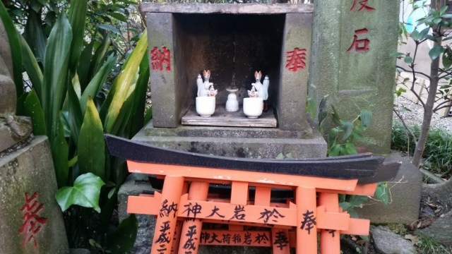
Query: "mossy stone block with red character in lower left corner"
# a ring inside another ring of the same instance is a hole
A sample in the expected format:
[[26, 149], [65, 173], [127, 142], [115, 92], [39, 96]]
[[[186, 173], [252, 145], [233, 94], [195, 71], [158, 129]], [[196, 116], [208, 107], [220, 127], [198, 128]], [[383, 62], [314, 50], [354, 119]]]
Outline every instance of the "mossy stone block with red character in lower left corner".
[[[54, 198], [56, 191], [47, 137], [38, 136], [27, 147], [0, 158], [2, 250], [18, 254], [69, 253], [63, 217]], [[30, 238], [32, 234], [27, 230], [37, 232]]]

